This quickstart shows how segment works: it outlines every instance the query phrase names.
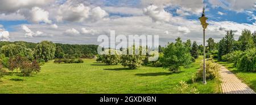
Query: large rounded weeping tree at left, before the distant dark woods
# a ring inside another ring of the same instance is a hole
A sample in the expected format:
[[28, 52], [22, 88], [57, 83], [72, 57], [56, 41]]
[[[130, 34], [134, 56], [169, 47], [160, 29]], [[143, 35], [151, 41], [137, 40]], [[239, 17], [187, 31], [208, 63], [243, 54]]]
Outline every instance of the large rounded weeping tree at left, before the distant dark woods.
[[45, 62], [54, 58], [55, 44], [49, 41], [42, 41], [35, 47], [35, 59], [44, 59]]

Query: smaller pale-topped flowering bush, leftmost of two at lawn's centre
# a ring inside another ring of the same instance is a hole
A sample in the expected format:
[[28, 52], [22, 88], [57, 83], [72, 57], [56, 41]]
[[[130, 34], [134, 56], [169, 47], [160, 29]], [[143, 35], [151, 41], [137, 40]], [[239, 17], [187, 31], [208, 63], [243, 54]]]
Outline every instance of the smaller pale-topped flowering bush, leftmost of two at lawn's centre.
[[106, 64], [118, 64], [120, 62], [121, 53], [114, 49], [106, 49], [102, 55], [102, 62]]

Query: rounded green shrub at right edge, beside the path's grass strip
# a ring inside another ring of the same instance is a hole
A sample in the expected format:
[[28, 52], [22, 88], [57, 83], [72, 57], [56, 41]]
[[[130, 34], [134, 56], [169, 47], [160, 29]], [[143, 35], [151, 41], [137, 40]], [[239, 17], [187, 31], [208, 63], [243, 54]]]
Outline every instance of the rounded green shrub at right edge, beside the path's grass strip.
[[240, 71], [256, 71], [256, 51], [247, 50], [237, 62], [237, 68]]

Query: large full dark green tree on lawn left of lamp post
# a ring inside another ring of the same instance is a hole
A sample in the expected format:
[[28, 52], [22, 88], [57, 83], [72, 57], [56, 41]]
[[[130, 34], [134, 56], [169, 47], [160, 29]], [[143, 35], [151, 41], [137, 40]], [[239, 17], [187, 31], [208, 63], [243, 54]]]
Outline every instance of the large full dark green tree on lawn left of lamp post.
[[192, 56], [180, 38], [177, 38], [175, 43], [169, 43], [163, 53], [163, 67], [170, 71], [177, 72], [180, 66], [184, 65], [185, 68], [188, 68], [192, 63]]

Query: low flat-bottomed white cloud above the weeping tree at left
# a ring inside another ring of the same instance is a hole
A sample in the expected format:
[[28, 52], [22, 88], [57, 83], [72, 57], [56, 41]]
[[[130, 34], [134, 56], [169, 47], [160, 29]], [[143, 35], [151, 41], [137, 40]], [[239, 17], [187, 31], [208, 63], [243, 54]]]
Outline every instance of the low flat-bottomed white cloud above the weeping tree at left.
[[46, 34], [40, 31], [33, 32], [26, 25], [22, 25], [22, 29], [26, 32], [25, 37], [52, 37], [52, 34]]

